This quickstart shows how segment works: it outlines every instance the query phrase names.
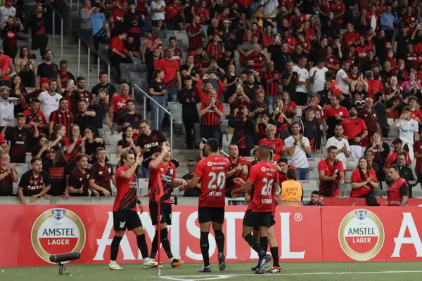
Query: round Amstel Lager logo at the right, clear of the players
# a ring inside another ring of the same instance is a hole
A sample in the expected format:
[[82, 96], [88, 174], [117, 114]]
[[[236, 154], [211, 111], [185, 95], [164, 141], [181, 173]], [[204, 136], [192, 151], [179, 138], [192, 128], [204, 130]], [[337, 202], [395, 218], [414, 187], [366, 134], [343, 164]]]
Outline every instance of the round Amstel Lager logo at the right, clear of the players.
[[364, 209], [347, 214], [338, 230], [343, 251], [356, 261], [373, 259], [383, 248], [384, 238], [381, 220], [373, 212]]

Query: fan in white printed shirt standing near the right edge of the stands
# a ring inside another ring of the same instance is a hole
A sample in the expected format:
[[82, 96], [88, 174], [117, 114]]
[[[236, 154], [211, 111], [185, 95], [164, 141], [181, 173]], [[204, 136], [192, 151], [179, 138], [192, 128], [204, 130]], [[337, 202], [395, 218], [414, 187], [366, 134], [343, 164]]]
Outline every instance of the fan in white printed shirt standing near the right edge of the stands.
[[400, 118], [390, 127], [391, 129], [399, 129], [399, 138], [403, 141], [403, 149], [409, 152], [410, 159], [414, 159], [413, 145], [414, 141], [419, 141], [419, 124], [411, 118], [411, 107], [404, 107]]

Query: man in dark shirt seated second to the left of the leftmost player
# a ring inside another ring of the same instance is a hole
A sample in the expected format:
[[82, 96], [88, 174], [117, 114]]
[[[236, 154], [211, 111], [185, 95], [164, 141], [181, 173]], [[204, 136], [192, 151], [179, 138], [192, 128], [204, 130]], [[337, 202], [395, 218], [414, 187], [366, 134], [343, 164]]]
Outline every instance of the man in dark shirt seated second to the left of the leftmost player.
[[68, 192], [72, 196], [89, 196], [88, 190], [91, 190], [95, 197], [100, 196], [98, 191], [89, 188], [89, 169], [88, 155], [79, 154], [77, 160], [77, 167], [70, 173]]

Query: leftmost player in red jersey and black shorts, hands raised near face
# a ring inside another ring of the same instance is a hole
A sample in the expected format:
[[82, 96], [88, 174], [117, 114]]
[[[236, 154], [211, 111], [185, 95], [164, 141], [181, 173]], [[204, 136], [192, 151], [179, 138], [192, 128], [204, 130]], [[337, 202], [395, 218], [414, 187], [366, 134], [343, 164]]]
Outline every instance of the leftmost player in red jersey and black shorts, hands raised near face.
[[141, 153], [134, 155], [132, 150], [122, 153], [116, 171], [117, 195], [113, 205], [113, 223], [115, 237], [111, 242], [110, 263], [108, 268], [112, 270], [122, 270], [116, 263], [119, 252], [119, 244], [124, 236], [124, 230], [132, 230], [136, 234], [136, 242], [143, 257], [143, 267], [152, 268], [158, 266], [157, 262], [148, 258], [148, 246], [145, 240], [145, 230], [142, 227], [141, 219], [136, 211], [138, 203], [141, 213], [143, 212], [142, 203], [136, 200], [136, 167], [141, 164]]

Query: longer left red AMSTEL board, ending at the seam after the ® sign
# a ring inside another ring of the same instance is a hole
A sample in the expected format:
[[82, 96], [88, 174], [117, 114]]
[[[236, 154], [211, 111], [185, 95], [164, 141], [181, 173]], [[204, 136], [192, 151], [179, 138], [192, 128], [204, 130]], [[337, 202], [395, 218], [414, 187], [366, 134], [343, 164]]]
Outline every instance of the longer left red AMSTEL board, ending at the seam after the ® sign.
[[[322, 261], [321, 208], [278, 207], [275, 237], [281, 261]], [[257, 254], [243, 240], [245, 206], [226, 207], [224, 233], [226, 260], [256, 261]], [[80, 251], [73, 263], [108, 263], [113, 240], [112, 206], [106, 205], [4, 205], [1, 208], [0, 267], [43, 266], [51, 254]], [[169, 237], [174, 256], [185, 262], [202, 261], [198, 207], [174, 206]], [[155, 229], [148, 209], [141, 221], [146, 228], [148, 247]], [[310, 237], [309, 230], [312, 230]], [[211, 261], [217, 261], [217, 246], [210, 237]], [[165, 254], [162, 253], [165, 260]], [[120, 244], [118, 261], [139, 262], [134, 233], [127, 232]]]

